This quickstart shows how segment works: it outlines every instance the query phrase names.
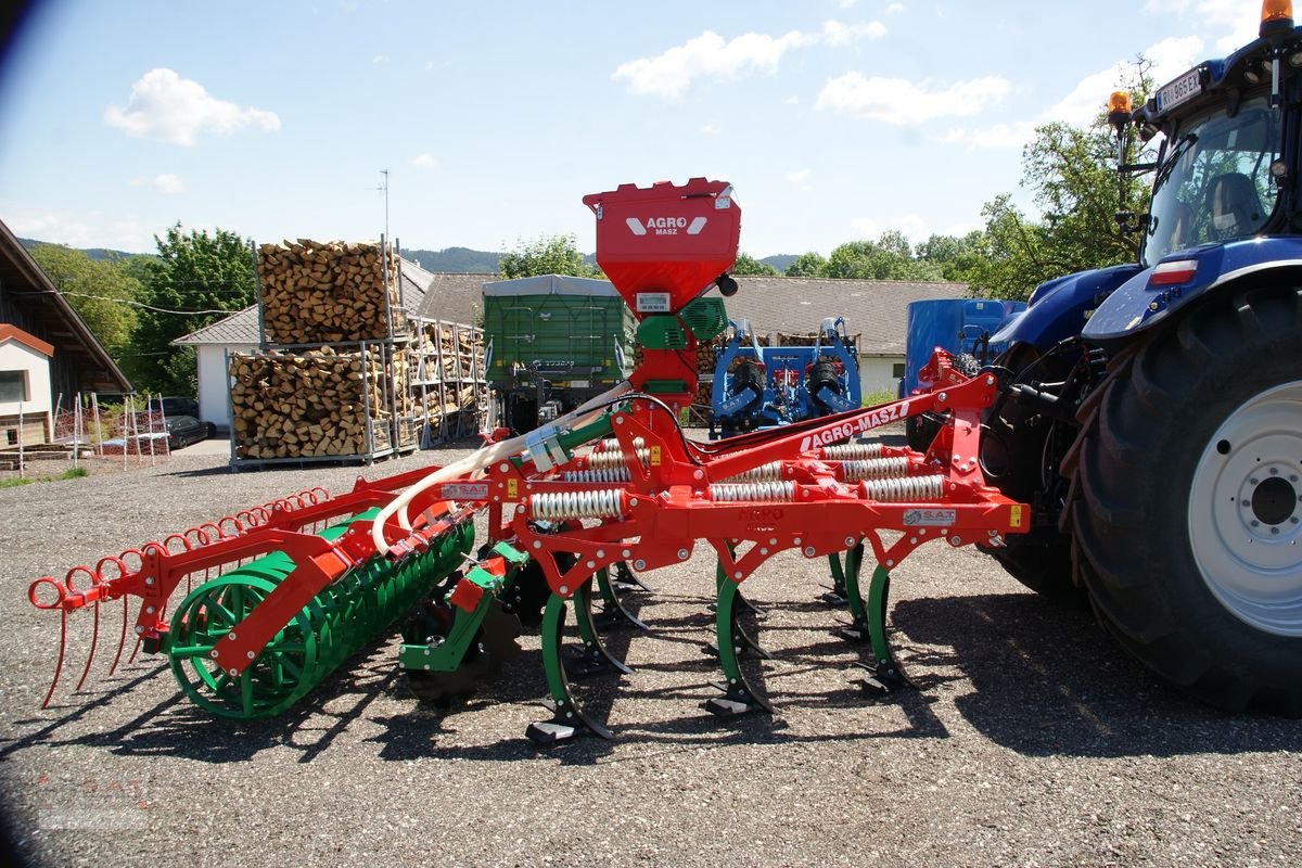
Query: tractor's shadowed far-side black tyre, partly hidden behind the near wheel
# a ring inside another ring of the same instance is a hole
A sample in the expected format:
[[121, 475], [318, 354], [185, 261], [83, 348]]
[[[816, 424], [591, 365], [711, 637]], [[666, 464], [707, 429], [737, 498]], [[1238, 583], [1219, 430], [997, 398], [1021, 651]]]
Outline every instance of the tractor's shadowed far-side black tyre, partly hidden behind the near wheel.
[[[1060, 359], [1036, 364], [1039, 359], [1034, 346], [1022, 344], [1008, 349], [995, 364], [1042, 380], [1069, 373], [1070, 366]], [[987, 549], [988, 554], [1031, 591], [1083, 605], [1081, 588], [1072, 580], [1072, 539], [1057, 528], [1066, 484], [1052, 462], [1059, 448], [1075, 439], [1074, 426], [1001, 396], [986, 410], [982, 428], [980, 462], [987, 481], [1006, 497], [1030, 504], [1032, 522], [1030, 534], [1009, 534], [1004, 545]]]

